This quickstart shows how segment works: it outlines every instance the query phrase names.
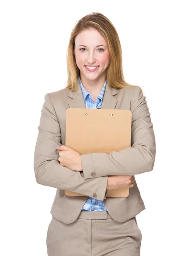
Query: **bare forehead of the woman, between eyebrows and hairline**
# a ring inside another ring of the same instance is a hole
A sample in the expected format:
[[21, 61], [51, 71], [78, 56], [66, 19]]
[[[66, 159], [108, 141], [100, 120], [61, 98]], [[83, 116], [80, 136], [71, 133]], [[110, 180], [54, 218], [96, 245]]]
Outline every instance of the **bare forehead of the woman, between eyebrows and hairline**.
[[105, 38], [96, 29], [85, 29], [75, 38], [75, 44], [85, 46], [95, 46], [103, 44], [106, 46]]

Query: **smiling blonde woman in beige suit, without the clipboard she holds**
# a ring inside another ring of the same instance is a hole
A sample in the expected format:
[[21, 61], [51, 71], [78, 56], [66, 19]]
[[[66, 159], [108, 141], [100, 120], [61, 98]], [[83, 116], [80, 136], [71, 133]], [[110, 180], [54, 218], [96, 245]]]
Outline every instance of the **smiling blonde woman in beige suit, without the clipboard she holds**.
[[[155, 160], [145, 96], [124, 81], [120, 40], [104, 15], [91, 13], [78, 21], [67, 53], [68, 83], [45, 95], [34, 152], [37, 183], [57, 188], [48, 256], [138, 256], [142, 233], [135, 216], [145, 205], [134, 175], [151, 171]], [[68, 108], [131, 110], [131, 146], [83, 155], [66, 147]], [[108, 189], [123, 187], [129, 187], [127, 198], [106, 197]], [[87, 197], [66, 196], [65, 190]]]

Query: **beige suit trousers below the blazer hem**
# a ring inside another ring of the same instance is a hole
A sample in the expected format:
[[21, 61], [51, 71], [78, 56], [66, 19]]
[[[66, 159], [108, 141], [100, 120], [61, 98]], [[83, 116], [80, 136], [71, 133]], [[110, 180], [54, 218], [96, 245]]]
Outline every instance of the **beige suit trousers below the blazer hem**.
[[141, 240], [136, 217], [120, 223], [108, 211], [81, 211], [71, 224], [52, 217], [46, 245], [48, 256], [140, 256]]

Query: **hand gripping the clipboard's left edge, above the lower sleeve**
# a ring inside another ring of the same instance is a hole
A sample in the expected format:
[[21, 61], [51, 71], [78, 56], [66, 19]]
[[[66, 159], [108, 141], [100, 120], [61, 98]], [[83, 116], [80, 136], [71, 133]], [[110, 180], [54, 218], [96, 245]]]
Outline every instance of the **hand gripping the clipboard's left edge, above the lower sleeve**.
[[81, 155], [77, 151], [65, 145], [57, 147], [57, 150], [60, 151], [58, 160], [62, 166], [73, 171], [83, 171]]

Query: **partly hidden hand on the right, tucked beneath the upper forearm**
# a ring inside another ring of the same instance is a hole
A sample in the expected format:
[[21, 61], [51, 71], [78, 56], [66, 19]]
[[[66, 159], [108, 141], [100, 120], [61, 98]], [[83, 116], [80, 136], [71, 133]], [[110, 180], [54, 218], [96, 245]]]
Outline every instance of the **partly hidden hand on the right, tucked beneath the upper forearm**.
[[107, 190], [131, 188], [134, 186], [134, 175], [110, 175], [108, 176]]

